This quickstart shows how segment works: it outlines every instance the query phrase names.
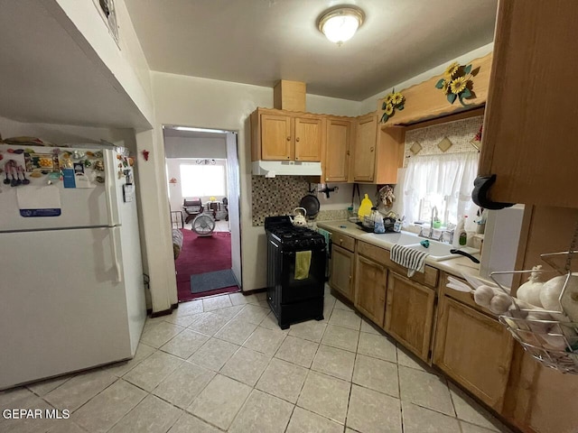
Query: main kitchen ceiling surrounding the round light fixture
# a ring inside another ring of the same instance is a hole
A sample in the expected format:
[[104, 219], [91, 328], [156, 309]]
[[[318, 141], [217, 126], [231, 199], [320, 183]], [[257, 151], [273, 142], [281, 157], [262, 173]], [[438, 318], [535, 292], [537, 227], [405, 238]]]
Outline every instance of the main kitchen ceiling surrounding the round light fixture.
[[[363, 100], [493, 40], [497, 0], [125, 0], [153, 70]], [[335, 5], [365, 23], [341, 46], [317, 30]]]

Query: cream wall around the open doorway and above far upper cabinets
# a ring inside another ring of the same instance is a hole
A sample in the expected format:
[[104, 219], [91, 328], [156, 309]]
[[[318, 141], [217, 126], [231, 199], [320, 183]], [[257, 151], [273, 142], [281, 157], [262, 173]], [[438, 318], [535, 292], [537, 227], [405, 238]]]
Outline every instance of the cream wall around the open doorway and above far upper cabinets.
[[[266, 287], [266, 238], [263, 227], [251, 222], [251, 154], [248, 115], [257, 106], [273, 106], [273, 88], [261, 88], [205, 78], [151, 73], [158, 152], [163, 152], [163, 124], [178, 124], [238, 132], [240, 167], [240, 225], [243, 290]], [[307, 97], [307, 111], [358, 115], [359, 102]], [[167, 202], [160, 198], [159, 202]]]

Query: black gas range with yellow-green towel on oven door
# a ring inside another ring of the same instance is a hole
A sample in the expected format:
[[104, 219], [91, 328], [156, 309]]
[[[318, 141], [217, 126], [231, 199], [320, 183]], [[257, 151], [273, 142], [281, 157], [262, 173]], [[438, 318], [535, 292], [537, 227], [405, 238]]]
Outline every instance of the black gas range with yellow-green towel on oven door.
[[279, 327], [323, 319], [325, 239], [290, 217], [266, 217], [267, 302]]

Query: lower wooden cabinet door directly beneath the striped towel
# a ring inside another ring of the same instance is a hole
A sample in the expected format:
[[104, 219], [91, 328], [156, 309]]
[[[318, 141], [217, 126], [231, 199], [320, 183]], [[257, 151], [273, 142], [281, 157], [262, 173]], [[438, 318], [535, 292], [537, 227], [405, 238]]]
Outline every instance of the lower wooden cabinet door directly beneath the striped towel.
[[435, 292], [396, 272], [387, 279], [386, 332], [429, 361]]

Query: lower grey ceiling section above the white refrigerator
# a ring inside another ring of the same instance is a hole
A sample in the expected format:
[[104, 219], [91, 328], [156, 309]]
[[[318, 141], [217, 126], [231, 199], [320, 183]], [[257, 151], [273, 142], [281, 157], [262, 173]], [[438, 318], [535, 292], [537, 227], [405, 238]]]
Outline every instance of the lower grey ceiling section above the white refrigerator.
[[150, 128], [112, 72], [79, 45], [81, 36], [63, 27], [53, 2], [0, 0], [0, 10], [0, 116]]

